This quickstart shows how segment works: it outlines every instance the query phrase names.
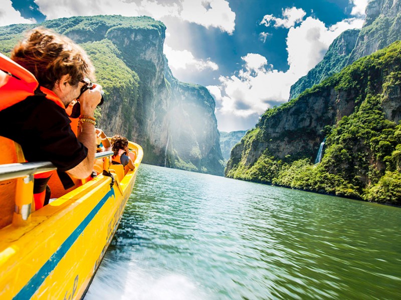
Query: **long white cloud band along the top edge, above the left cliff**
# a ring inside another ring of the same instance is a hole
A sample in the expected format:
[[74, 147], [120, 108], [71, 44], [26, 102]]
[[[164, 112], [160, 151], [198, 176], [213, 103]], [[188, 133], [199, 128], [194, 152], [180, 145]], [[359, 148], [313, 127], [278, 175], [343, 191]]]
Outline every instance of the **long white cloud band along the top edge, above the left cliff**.
[[149, 15], [155, 19], [169, 16], [207, 28], [220, 28], [230, 34], [235, 29], [235, 13], [226, 0], [174, 0], [169, 3], [154, 0], [135, 2], [125, 0], [35, 0], [35, 2], [47, 19], [95, 14]]

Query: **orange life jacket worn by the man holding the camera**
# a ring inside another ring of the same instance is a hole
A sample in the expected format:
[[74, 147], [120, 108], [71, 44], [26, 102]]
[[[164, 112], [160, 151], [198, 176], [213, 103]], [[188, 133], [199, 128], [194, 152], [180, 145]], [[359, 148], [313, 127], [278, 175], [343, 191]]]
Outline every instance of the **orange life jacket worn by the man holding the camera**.
[[[54, 101], [65, 109], [60, 98], [50, 89], [40, 86], [36, 77], [29, 70], [0, 53], [0, 110], [6, 109], [33, 95], [44, 95], [47, 99]], [[38, 181], [46, 180], [50, 178], [53, 172], [35, 174], [34, 178], [38, 179]], [[46, 184], [42, 184], [42, 188], [39, 188], [39, 190], [36, 188], [34, 193], [35, 209], [43, 207], [45, 195]]]

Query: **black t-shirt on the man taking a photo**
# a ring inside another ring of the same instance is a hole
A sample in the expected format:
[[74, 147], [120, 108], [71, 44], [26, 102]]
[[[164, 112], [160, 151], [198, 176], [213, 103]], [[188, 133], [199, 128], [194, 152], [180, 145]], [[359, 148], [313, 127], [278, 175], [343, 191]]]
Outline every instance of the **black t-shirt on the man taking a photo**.
[[70, 122], [65, 109], [54, 101], [30, 96], [0, 111], [0, 135], [18, 142], [28, 161], [51, 161], [66, 171], [88, 154]]

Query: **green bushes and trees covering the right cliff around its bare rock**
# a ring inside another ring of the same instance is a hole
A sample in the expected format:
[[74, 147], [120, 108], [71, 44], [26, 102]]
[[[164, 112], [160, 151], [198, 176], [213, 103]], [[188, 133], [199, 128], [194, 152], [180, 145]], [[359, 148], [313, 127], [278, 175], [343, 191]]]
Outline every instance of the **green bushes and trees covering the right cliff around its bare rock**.
[[[301, 100], [329, 89], [334, 89], [337, 95], [347, 95], [354, 108], [349, 115], [324, 128], [326, 144], [321, 162], [314, 165], [311, 155], [282, 158], [273, 155], [269, 141], [263, 140], [268, 130], [264, 126], [266, 121], [274, 116], [285, 118], [289, 108], [294, 108]], [[226, 175], [400, 205], [400, 97], [401, 41], [396, 41], [360, 58], [298, 98], [267, 110], [257, 128], [241, 141], [238, 147], [242, 153], [231, 157]], [[258, 156], [257, 146], [261, 142], [267, 146]], [[255, 162], [250, 158], [252, 155], [258, 156]]]

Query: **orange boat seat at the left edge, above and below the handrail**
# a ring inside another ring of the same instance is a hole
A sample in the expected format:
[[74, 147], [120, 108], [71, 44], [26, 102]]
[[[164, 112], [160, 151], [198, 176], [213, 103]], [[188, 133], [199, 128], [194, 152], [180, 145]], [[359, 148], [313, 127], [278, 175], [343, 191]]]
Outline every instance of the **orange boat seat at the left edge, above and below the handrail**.
[[[0, 164], [25, 162], [21, 146], [13, 140], [0, 136]], [[0, 228], [13, 222], [17, 179], [0, 181]]]

